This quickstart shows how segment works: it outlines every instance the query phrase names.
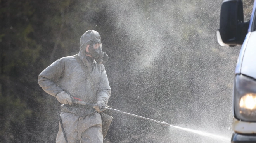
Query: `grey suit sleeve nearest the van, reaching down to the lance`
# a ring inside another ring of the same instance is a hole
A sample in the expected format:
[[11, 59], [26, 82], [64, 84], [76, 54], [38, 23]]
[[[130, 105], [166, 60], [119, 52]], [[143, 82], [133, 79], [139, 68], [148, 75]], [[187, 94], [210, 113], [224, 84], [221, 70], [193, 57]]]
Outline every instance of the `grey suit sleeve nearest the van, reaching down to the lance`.
[[109, 86], [109, 80], [107, 79], [107, 74], [105, 67], [102, 64], [101, 67], [101, 76], [100, 76], [100, 83], [99, 83], [99, 89], [97, 92], [98, 100], [102, 100], [107, 104], [109, 101], [109, 97], [111, 95], [111, 88]]

